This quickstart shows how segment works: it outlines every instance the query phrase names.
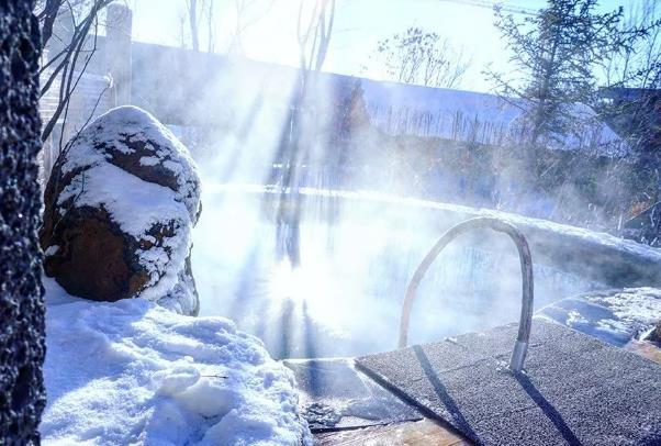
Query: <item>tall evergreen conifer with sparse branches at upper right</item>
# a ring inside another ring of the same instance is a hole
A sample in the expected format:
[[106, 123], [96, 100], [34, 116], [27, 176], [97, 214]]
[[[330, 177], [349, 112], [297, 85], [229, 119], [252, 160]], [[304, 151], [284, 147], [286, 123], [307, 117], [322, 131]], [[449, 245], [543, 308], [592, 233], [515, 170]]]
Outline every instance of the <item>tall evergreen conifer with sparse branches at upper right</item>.
[[489, 71], [498, 92], [523, 111], [522, 143], [534, 156], [584, 129], [576, 104], [591, 104], [597, 91], [595, 67], [618, 44], [621, 8], [597, 13], [597, 0], [549, 0], [538, 14], [516, 21], [496, 8], [515, 70]]

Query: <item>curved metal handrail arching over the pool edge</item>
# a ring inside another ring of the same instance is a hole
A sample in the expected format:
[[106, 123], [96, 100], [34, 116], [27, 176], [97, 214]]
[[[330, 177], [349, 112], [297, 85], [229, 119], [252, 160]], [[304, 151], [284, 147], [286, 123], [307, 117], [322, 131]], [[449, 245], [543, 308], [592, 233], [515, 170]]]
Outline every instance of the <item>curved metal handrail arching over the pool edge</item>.
[[477, 228], [491, 228], [496, 232], [505, 233], [509, 235], [518, 249], [522, 269], [522, 312], [518, 323], [518, 335], [514, 344], [512, 358], [509, 359], [509, 369], [519, 372], [523, 370], [526, 354], [528, 352], [530, 326], [533, 324], [533, 301], [535, 294], [533, 285], [533, 258], [530, 256], [528, 242], [526, 242], [524, 234], [516, 226], [503, 220], [490, 216], [467, 220], [466, 222], [451, 227], [438, 239], [438, 242], [436, 242], [436, 245], [434, 245], [432, 250], [429, 250], [422, 264], [417, 267], [411, 279], [411, 283], [408, 283], [408, 288], [406, 289], [406, 297], [404, 298], [404, 305], [402, 308], [402, 319], [400, 321], [400, 348], [405, 348], [407, 345], [411, 308], [416, 296], [417, 287], [427, 272], [427, 269], [429, 269], [432, 263], [434, 263], [440, 252], [453, 238]]

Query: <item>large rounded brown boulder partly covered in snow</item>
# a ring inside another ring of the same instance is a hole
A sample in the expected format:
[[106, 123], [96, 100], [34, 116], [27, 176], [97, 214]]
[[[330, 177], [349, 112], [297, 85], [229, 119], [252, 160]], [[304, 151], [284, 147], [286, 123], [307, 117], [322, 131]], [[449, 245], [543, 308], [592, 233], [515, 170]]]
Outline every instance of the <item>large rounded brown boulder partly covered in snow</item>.
[[113, 109], [75, 136], [46, 186], [46, 275], [97, 301], [142, 297], [198, 314], [191, 231], [200, 179], [188, 149], [149, 113]]

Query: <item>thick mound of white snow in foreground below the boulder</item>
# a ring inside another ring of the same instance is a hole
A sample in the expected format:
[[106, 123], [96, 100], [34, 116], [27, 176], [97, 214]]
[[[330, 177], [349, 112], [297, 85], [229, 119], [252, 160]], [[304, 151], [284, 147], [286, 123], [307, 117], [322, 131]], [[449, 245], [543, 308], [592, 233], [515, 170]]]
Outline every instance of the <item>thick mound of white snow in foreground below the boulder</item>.
[[45, 279], [45, 444], [298, 445], [291, 371], [221, 317], [71, 298]]

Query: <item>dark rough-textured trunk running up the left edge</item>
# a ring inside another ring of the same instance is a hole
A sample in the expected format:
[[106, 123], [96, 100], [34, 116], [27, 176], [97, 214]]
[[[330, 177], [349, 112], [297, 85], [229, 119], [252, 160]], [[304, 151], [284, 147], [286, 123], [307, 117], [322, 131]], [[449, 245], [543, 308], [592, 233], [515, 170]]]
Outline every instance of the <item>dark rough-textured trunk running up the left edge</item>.
[[33, 1], [0, 0], [0, 444], [38, 444], [46, 403]]

